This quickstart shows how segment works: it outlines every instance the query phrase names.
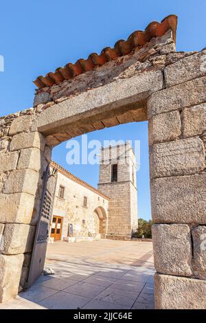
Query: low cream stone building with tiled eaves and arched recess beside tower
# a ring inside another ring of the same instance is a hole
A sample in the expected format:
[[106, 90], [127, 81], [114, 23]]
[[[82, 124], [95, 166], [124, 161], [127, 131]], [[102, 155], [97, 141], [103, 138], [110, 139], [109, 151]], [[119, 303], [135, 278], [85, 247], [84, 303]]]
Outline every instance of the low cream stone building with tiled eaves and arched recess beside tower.
[[[62, 219], [60, 240], [73, 241], [71, 238], [75, 238], [76, 241], [85, 241], [91, 238], [105, 238], [108, 197], [58, 164], [53, 162], [52, 167], [58, 170], [52, 218], [58, 216]], [[60, 187], [64, 190], [62, 196]], [[84, 205], [84, 198], [87, 199], [87, 205]], [[69, 233], [69, 225], [72, 225], [72, 234]]]

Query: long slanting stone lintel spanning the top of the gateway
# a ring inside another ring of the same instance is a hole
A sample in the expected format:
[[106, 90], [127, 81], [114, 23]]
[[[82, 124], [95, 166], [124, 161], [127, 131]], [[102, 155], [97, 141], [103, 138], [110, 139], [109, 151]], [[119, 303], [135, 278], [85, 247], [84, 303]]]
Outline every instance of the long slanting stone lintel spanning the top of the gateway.
[[[104, 85], [81, 93], [43, 111], [39, 118], [32, 124], [32, 131], [51, 131], [52, 128], [68, 123], [70, 120], [82, 120], [82, 113], [93, 115], [93, 110], [98, 109], [96, 113], [105, 113], [115, 107], [123, 107], [139, 100], [148, 98], [150, 93], [163, 89], [163, 75], [161, 71], [155, 71], [133, 78], [119, 79], [111, 84]], [[100, 119], [99, 119], [100, 120]]]

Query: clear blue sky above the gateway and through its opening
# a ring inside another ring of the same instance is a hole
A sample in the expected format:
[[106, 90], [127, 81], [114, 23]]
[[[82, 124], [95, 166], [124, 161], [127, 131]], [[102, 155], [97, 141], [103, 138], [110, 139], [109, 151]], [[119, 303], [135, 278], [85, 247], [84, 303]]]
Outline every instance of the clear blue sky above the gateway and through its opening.
[[[168, 14], [179, 16], [178, 51], [206, 46], [205, 0], [1, 1], [0, 55], [5, 71], [0, 72], [0, 115], [32, 107], [36, 76], [113, 46]], [[141, 140], [137, 181], [139, 216], [144, 219], [150, 218], [147, 127], [147, 122], [126, 124], [88, 136], [89, 140]], [[54, 159], [68, 168], [66, 154], [65, 144], [54, 150]], [[93, 186], [98, 183], [98, 166], [70, 166], [69, 170]]]

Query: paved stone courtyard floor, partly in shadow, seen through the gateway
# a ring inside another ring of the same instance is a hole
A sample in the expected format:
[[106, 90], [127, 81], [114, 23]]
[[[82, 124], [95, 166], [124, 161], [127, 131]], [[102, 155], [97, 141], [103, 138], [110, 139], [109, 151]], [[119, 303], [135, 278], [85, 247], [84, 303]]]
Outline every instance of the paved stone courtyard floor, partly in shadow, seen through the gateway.
[[45, 268], [55, 275], [41, 276], [0, 309], [154, 309], [150, 242], [56, 242]]

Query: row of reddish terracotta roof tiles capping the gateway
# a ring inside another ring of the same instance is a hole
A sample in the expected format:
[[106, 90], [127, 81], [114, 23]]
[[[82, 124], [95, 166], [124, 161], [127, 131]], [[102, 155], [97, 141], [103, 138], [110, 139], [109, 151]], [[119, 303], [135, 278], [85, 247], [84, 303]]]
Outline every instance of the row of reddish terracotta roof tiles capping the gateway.
[[165, 17], [161, 23], [153, 21], [146, 27], [146, 30], [133, 32], [126, 41], [119, 40], [113, 48], [102, 49], [100, 55], [92, 53], [87, 59], [79, 59], [75, 64], [68, 63], [65, 67], [58, 67], [54, 73], [49, 72], [46, 76], [38, 76], [34, 84], [39, 88], [52, 87], [63, 80], [69, 80], [84, 73], [91, 71], [96, 66], [104, 65], [110, 60], [115, 60], [119, 56], [129, 54], [135, 48], [141, 48], [153, 37], [163, 36], [168, 30], [172, 30], [173, 40], [176, 41], [177, 16], [172, 14]]

